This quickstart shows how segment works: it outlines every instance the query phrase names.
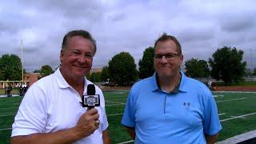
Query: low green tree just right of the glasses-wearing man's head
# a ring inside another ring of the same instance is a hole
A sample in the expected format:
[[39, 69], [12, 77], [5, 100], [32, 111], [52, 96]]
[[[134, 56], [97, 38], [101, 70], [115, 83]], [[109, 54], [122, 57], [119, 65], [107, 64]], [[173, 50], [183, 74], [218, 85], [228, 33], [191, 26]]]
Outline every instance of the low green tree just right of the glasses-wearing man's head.
[[208, 63], [204, 60], [191, 58], [185, 62], [186, 75], [191, 78], [207, 78], [210, 75]]

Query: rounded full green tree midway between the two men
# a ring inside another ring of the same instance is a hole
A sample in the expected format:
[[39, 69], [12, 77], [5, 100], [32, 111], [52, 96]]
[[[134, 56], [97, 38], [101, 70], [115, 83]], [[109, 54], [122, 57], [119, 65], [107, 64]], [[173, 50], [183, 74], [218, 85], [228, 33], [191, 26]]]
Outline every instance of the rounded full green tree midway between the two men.
[[109, 62], [110, 80], [119, 86], [129, 86], [138, 79], [134, 58], [127, 52], [114, 55]]

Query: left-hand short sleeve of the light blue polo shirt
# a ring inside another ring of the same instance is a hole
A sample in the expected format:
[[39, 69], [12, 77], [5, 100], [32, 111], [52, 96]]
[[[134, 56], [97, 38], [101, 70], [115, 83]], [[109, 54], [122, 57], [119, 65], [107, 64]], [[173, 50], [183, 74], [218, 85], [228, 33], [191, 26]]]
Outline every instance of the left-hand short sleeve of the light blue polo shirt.
[[134, 93], [133, 93], [133, 90], [131, 89], [130, 93], [128, 94], [128, 98], [126, 100], [126, 108], [122, 115], [122, 122], [121, 122], [122, 125], [135, 127], [134, 114], [135, 114]]

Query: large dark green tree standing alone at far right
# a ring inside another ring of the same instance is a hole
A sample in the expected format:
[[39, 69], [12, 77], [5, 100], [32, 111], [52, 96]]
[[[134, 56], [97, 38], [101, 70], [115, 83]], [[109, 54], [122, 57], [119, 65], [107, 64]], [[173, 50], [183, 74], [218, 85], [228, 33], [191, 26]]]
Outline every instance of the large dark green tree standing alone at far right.
[[212, 78], [222, 79], [226, 84], [242, 81], [246, 73], [246, 62], [242, 62], [242, 50], [224, 46], [216, 50], [212, 56], [213, 59], [209, 58]]

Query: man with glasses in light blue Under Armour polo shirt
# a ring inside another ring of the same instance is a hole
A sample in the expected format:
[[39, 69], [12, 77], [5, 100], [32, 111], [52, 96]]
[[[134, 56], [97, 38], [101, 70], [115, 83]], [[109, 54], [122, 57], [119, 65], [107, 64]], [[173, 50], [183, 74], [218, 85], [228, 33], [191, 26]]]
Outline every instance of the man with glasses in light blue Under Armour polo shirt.
[[122, 125], [135, 143], [214, 143], [222, 126], [210, 90], [179, 71], [183, 55], [173, 36], [154, 44], [150, 78], [134, 84]]

